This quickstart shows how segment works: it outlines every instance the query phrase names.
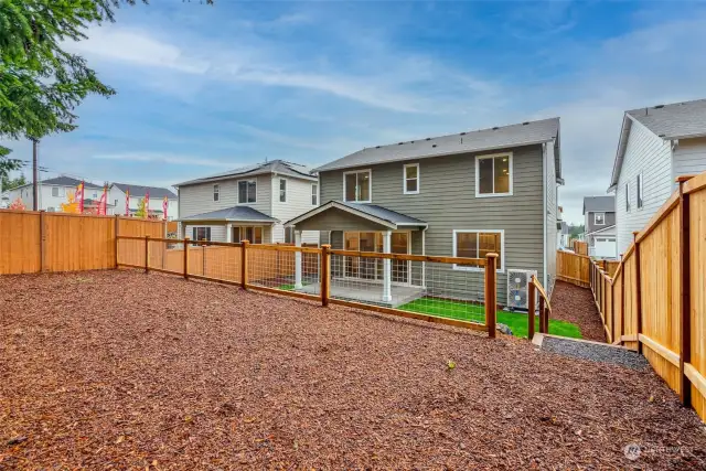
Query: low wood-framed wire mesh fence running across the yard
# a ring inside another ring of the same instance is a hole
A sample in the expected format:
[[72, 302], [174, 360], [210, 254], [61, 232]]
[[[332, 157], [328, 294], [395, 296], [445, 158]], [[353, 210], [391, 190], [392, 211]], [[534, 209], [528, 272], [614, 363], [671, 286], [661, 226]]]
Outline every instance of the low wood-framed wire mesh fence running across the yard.
[[[336, 250], [329, 245], [318, 248], [118, 235], [115, 264], [313, 300], [322, 306], [339, 304], [483, 331], [494, 338], [496, 260], [496, 254], [485, 258], [437, 257]], [[448, 276], [447, 292], [453, 289], [453, 297], [439, 296], [440, 288], [435, 291], [430, 286], [411, 286], [411, 272], [416, 272], [413, 263], [419, 265], [419, 272], [425, 274], [429, 283], [439, 285], [439, 280]], [[451, 269], [453, 265], [472, 266], [478, 272], [463, 275], [461, 283], [459, 274]], [[354, 269], [359, 277], [349, 276]], [[392, 292], [385, 293], [385, 283], [378, 279], [381, 272], [392, 277], [393, 282], [387, 283]], [[394, 282], [403, 276], [407, 277], [406, 283]], [[470, 287], [472, 292], [466, 298], [458, 297], [459, 287]], [[482, 300], [478, 299], [479, 290], [482, 290]], [[404, 302], [415, 296], [416, 299]], [[451, 310], [459, 306], [468, 314], [457, 319], [437, 314], [429, 309], [437, 303]]]

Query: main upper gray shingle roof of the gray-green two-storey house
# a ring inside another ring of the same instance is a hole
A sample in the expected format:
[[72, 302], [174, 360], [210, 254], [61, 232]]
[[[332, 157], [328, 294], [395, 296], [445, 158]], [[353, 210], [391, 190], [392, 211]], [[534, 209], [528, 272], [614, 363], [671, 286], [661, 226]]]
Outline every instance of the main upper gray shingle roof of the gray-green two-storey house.
[[555, 152], [556, 174], [557, 178], [560, 178], [560, 156], [558, 150], [559, 118], [525, 121], [517, 125], [464, 131], [434, 138], [420, 138], [388, 146], [375, 146], [353, 152], [314, 170], [323, 172], [384, 162], [538, 144], [549, 141], [555, 141], [557, 147], [557, 151]]

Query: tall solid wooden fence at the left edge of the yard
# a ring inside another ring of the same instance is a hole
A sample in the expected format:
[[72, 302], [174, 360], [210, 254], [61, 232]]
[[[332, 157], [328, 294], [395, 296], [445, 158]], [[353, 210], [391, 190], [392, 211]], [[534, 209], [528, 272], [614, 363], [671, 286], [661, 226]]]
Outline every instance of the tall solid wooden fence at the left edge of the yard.
[[0, 210], [0, 275], [115, 268], [116, 234], [162, 237], [164, 223]]

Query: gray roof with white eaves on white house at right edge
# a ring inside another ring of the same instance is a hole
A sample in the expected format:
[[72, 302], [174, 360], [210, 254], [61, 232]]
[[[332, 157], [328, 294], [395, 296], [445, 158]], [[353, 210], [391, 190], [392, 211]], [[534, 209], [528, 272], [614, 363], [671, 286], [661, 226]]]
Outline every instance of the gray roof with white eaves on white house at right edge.
[[657, 105], [625, 111], [622, 118], [622, 129], [608, 191], [612, 191], [620, 179], [622, 160], [625, 156], [628, 137], [630, 136], [633, 120], [664, 140], [703, 137], [706, 136], [706, 99]]

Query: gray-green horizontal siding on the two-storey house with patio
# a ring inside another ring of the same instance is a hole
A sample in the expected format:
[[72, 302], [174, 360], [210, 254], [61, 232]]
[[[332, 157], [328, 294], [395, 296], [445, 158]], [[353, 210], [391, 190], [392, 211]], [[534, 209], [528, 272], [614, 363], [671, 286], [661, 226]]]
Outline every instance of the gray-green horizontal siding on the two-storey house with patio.
[[[544, 278], [544, 189], [543, 148], [528, 146], [513, 151], [513, 195], [475, 197], [475, 153], [421, 159], [419, 163], [419, 194], [403, 194], [405, 163], [389, 162], [364, 165], [372, 169], [372, 202], [393, 211], [419, 218], [429, 224], [426, 233], [426, 254], [453, 254], [454, 229], [503, 229], [505, 244], [505, 272], [507, 269], [537, 270]], [[493, 151], [499, 153], [502, 151]], [[481, 153], [482, 154], [482, 153]], [[355, 169], [346, 169], [352, 171]], [[554, 175], [550, 179], [555, 181]], [[321, 202], [343, 197], [343, 171], [322, 172]], [[554, 190], [554, 188], [553, 188]], [[554, 225], [556, 227], [556, 223]], [[548, 232], [554, 247], [555, 229]], [[334, 245], [334, 234], [331, 244]], [[548, 236], [547, 236], [548, 237]], [[334, 245], [335, 246], [335, 245]], [[498, 296], [506, 301], [507, 279], [498, 274]], [[446, 283], [461, 282], [474, 276], [482, 288], [482, 272], [452, 270], [449, 266], [442, 277]], [[427, 274], [427, 285], [434, 277]], [[481, 289], [482, 291], [482, 289]]]

